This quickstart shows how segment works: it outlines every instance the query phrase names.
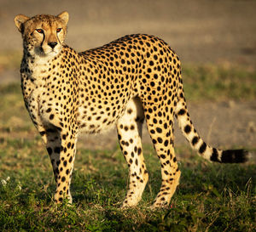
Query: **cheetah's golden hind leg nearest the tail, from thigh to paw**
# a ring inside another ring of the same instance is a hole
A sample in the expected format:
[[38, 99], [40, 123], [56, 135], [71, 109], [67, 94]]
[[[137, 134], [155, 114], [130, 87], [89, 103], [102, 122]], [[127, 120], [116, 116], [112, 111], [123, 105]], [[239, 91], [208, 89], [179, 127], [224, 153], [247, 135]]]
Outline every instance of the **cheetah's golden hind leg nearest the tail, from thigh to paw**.
[[[156, 108], [158, 109], [158, 108]], [[147, 110], [147, 127], [154, 150], [160, 158], [161, 164], [161, 187], [151, 208], [168, 207], [172, 195], [177, 189], [181, 172], [177, 166], [177, 159], [173, 148], [173, 115], [168, 117], [162, 115], [163, 109], [158, 109], [158, 118], [149, 115], [151, 110]]]

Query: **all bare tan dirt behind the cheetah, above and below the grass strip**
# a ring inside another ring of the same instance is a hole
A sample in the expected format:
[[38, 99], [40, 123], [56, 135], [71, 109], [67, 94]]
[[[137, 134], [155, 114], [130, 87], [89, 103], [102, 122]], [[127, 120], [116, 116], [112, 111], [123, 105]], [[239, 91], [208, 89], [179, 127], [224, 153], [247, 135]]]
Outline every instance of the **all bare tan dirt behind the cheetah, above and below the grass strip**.
[[[59, 14], [67, 10], [67, 44], [78, 51], [125, 34], [147, 33], [168, 42], [183, 64], [224, 62], [255, 68], [255, 8], [253, 0], [0, 0], [0, 53], [21, 50], [20, 33], [14, 24], [16, 14]], [[0, 72], [0, 83], [18, 80], [18, 67]], [[255, 101], [193, 104], [189, 111], [195, 127], [210, 144], [255, 148]], [[176, 144], [184, 143], [181, 133], [177, 132], [176, 138]], [[149, 142], [147, 136], [144, 140]], [[114, 131], [80, 141], [80, 146], [97, 149], [117, 144]]]

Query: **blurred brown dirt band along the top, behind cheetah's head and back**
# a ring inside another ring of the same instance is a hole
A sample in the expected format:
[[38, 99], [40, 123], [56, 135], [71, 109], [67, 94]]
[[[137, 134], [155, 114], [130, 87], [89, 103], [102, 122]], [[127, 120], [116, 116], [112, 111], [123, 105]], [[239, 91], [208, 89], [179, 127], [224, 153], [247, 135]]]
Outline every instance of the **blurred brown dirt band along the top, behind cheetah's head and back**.
[[94, 48], [125, 34], [161, 37], [183, 63], [256, 64], [254, 0], [1, 0], [0, 51], [20, 49], [16, 14], [70, 14], [67, 43]]

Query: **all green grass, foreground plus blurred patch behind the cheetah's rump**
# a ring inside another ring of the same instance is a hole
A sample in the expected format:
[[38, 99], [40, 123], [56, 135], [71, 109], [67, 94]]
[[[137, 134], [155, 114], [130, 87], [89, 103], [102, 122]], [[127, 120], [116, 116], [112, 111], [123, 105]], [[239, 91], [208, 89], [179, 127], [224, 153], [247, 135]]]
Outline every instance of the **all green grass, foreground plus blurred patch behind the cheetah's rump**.
[[[194, 101], [254, 100], [255, 76], [255, 71], [212, 65], [183, 69], [186, 97]], [[211, 164], [189, 147], [176, 149], [182, 177], [169, 208], [149, 209], [160, 189], [160, 162], [145, 146], [149, 181], [143, 200], [138, 207], [119, 209], [128, 171], [118, 145], [79, 149], [74, 204], [55, 206], [49, 157], [26, 112], [20, 84], [0, 86], [0, 97], [0, 230], [255, 231], [255, 164]]]

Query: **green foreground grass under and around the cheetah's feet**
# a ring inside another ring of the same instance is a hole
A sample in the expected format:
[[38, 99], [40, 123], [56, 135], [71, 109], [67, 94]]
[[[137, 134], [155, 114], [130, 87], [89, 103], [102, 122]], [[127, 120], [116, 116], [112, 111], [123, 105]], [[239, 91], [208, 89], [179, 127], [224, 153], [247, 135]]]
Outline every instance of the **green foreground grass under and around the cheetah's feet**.
[[[6, 231], [253, 231], [255, 166], [210, 164], [189, 154], [171, 206], [148, 207], [160, 188], [160, 163], [146, 146], [149, 182], [138, 207], [120, 210], [127, 169], [116, 150], [79, 150], [73, 206], [56, 207], [55, 181], [41, 140], [0, 144], [0, 228]], [[5, 181], [4, 181], [5, 180]]]

